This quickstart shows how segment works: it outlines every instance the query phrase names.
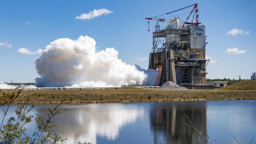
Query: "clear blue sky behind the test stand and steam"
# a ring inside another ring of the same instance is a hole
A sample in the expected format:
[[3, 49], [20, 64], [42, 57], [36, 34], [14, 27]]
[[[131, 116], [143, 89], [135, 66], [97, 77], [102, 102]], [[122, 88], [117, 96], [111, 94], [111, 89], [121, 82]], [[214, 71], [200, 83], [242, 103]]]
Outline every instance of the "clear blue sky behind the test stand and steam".
[[[147, 69], [148, 60], [134, 59], [148, 58], [151, 51], [155, 22], [150, 22], [151, 31], [148, 33], [145, 18], [194, 3], [198, 3], [199, 21], [206, 26], [206, 41], [209, 42], [206, 55], [213, 59], [206, 67], [209, 72], [207, 78], [238, 79], [241, 75], [241, 78], [249, 79], [251, 72], [256, 71], [256, 50], [253, 44], [256, 38], [256, 1], [170, 0], [1, 1], [0, 79], [2, 82], [34, 82], [39, 77], [34, 59], [40, 55], [17, 54], [17, 50], [26, 48], [37, 51], [55, 39], [77, 39], [80, 35], [94, 38], [99, 47], [97, 50], [114, 47], [123, 62]], [[82, 13], [103, 8], [114, 13], [86, 21], [75, 19]], [[191, 9], [176, 14], [182, 14], [181, 19], [185, 19]], [[165, 25], [160, 23], [161, 27]], [[232, 29], [241, 31], [236, 35], [227, 34]], [[228, 48], [246, 52], [225, 53]]]

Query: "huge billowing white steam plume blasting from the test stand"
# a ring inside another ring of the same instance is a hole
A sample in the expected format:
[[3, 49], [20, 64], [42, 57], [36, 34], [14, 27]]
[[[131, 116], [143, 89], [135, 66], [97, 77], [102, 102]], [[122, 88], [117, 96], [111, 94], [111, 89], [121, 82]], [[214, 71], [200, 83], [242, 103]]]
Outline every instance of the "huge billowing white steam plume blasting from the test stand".
[[45, 47], [35, 59], [37, 87], [111, 87], [121, 85], [155, 86], [158, 72], [127, 65], [118, 59], [113, 47], [97, 52], [88, 36], [77, 40], [60, 38]]

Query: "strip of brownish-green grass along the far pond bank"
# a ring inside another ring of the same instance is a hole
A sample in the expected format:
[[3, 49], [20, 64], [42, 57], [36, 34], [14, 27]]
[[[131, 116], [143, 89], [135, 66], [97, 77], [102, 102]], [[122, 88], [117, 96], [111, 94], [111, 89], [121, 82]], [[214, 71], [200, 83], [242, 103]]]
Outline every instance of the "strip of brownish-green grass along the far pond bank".
[[[6, 90], [4, 92], [12, 92]], [[165, 90], [122, 87], [119, 89], [26, 90], [13, 103], [101, 103], [254, 99], [256, 91]]]

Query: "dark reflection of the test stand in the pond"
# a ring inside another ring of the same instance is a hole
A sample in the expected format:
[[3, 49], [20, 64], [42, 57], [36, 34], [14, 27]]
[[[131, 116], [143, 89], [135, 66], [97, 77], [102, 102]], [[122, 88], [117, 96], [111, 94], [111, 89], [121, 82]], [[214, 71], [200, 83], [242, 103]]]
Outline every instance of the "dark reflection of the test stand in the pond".
[[[186, 114], [193, 125], [206, 133], [205, 102], [168, 102], [154, 103], [150, 111], [150, 129], [154, 143], [207, 143], [198, 139], [199, 134], [189, 124]], [[157, 110], [156, 110], [157, 109]]]

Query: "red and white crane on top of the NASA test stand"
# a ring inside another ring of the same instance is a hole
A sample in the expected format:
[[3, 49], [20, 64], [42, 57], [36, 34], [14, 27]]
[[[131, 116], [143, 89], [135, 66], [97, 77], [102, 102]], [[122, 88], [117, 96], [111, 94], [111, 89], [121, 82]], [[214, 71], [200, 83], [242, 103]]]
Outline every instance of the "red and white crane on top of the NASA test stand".
[[[193, 7], [193, 9], [191, 10], [191, 12], [190, 12], [189, 16], [187, 17], [186, 21], [183, 22], [182, 27], [184, 27], [185, 24], [188, 24], [188, 25], [199, 25], [199, 24], [201, 24], [201, 23], [198, 22], [198, 5], [197, 5], [197, 3], [196, 3], [196, 4], [193, 4], [193, 5], [190, 5], [190, 6], [183, 7], [183, 8], [178, 9], [178, 10], [171, 11], [171, 12], [166, 13], [166, 14], [175, 13], [175, 12], [177, 12], [177, 11], [180, 11], [180, 10], [183, 10], [183, 9], [186, 9], [186, 8], [189, 8], [189, 7], [192, 7], [192, 6], [194, 6], [194, 7]], [[194, 14], [193, 14], [192, 22], [187, 22], [187, 21], [189, 20], [190, 16], [191, 16], [191, 14], [193, 13], [193, 11], [194, 11]], [[156, 17], [160, 17], [160, 16], [163, 16], [163, 15], [166, 15], [166, 14], [161, 14], [161, 15], [157, 15], [157, 16], [155, 16], [155, 17], [145, 18], [145, 19], [148, 19], [148, 21], [149, 21], [149, 20], [155, 20], [155, 21], [159, 21], [159, 22], [170, 22], [170, 19], [156, 18]], [[196, 21], [195, 23], [193, 23], [194, 17], [195, 17], [195, 21]], [[149, 22], [148, 22], [148, 27], [149, 27]], [[148, 30], [149, 30], [149, 29], [148, 29]]]

